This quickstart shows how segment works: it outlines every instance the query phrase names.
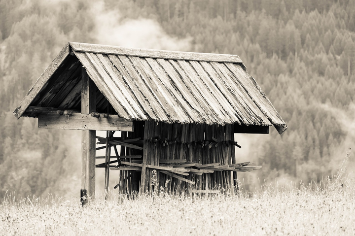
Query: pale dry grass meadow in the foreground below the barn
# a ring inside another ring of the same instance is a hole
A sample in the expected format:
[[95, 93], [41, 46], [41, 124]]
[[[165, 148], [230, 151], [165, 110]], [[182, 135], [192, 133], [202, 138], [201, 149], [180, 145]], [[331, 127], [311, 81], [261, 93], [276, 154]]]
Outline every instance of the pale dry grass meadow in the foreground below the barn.
[[355, 180], [346, 162], [323, 185], [263, 186], [235, 197], [161, 194], [87, 207], [49, 197], [0, 204], [4, 235], [355, 235]]

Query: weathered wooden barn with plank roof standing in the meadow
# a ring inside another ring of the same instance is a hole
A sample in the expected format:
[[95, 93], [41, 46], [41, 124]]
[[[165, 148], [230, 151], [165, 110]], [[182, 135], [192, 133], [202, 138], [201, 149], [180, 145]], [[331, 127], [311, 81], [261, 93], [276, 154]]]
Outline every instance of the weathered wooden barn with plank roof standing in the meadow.
[[260, 167], [238, 163], [234, 134], [287, 129], [237, 55], [77, 42], [63, 47], [14, 115], [38, 118], [38, 128], [82, 130], [82, 195], [92, 197], [95, 168], [105, 168], [106, 190], [109, 171], [119, 170], [121, 193], [235, 189], [237, 171]]

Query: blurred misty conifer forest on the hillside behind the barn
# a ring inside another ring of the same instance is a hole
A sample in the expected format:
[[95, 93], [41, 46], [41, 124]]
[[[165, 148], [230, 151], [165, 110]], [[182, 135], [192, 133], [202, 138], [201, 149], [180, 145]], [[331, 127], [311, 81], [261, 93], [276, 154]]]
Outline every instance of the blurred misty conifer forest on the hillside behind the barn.
[[0, 196], [78, 195], [80, 132], [12, 114], [68, 41], [239, 55], [289, 127], [236, 136], [263, 166], [249, 191], [320, 182], [354, 147], [354, 0], [0, 0]]

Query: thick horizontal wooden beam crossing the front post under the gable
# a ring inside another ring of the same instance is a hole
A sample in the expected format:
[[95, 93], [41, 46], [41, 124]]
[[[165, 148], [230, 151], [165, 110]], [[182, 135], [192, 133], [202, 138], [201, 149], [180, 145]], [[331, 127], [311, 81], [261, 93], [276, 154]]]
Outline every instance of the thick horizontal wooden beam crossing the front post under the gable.
[[117, 115], [107, 118], [92, 117], [91, 114], [75, 113], [71, 116], [56, 112], [42, 112], [38, 115], [38, 128], [62, 130], [104, 130], [133, 132], [133, 121], [125, 121]]

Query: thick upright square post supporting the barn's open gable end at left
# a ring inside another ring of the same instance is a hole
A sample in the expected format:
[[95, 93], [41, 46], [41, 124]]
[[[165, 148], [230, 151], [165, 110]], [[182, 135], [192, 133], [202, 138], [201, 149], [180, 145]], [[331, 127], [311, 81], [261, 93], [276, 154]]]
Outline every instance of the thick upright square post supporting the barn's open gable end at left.
[[[81, 69], [81, 114], [96, 111], [95, 84], [86, 69]], [[81, 131], [81, 189], [91, 200], [95, 199], [95, 130]]]

